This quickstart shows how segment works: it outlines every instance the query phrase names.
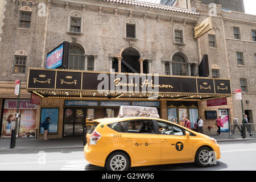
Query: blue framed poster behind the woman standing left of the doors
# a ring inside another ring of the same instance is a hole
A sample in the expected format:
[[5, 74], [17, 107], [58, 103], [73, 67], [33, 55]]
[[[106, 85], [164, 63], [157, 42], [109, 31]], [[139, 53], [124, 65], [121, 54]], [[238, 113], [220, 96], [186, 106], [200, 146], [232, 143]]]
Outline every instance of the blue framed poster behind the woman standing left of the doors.
[[44, 129], [43, 127], [41, 127], [41, 123], [43, 123], [47, 117], [50, 118], [48, 133], [57, 133], [58, 121], [59, 121], [59, 108], [42, 108], [41, 109], [40, 133], [44, 133]]

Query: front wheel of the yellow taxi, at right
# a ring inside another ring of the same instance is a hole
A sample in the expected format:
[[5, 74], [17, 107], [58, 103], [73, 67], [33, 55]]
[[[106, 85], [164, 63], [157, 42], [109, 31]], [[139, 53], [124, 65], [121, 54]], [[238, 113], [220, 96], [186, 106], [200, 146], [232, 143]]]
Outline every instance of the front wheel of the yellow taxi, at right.
[[212, 149], [209, 147], [201, 147], [196, 152], [195, 156], [195, 164], [199, 167], [208, 167], [211, 164], [212, 156]]

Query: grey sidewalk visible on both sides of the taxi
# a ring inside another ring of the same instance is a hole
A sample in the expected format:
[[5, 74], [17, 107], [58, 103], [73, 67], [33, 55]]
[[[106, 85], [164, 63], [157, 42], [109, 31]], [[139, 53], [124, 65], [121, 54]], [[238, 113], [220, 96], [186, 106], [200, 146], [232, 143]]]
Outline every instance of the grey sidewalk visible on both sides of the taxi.
[[[228, 132], [222, 132], [221, 136], [208, 135], [209, 137], [215, 138], [217, 142], [229, 142], [229, 141], [241, 141], [241, 140], [256, 140], [246, 136], [242, 139], [241, 136], [233, 136], [233, 139], [229, 138]], [[16, 150], [46, 150], [46, 149], [57, 149], [57, 148], [83, 148], [82, 137], [77, 138], [60, 138], [60, 139], [35, 139], [35, 138], [17, 138], [16, 147], [10, 148], [10, 138], [0, 138], [0, 152], [2, 151], [16, 151]]]

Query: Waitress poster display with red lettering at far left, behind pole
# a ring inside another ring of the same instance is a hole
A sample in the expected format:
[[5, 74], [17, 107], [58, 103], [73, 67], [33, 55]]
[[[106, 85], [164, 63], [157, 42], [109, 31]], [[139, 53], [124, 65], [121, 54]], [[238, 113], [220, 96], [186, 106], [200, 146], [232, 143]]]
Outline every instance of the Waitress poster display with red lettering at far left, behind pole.
[[20, 117], [16, 118], [15, 114], [17, 112], [17, 105], [18, 100], [5, 100], [5, 104], [3, 107], [1, 138], [11, 137], [11, 130], [15, 129], [16, 119], [18, 119], [17, 137], [35, 137], [37, 106], [35, 104], [32, 104], [30, 100], [20, 100]]

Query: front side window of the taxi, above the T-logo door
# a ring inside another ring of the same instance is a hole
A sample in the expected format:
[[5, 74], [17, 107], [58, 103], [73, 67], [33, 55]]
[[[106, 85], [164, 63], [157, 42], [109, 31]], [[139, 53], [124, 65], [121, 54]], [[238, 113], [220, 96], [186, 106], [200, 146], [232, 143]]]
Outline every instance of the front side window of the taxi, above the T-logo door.
[[160, 121], [157, 121], [156, 123], [159, 127], [160, 134], [164, 134], [164, 135], [184, 135], [183, 130], [180, 127], [172, 125], [171, 123], [160, 122]]

